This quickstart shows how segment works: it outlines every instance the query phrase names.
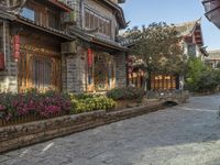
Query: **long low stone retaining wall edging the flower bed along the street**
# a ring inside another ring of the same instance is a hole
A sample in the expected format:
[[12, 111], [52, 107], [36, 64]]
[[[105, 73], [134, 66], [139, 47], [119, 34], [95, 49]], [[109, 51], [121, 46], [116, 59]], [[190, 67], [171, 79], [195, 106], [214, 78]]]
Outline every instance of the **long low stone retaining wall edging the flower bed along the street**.
[[162, 109], [162, 102], [120, 111], [95, 111], [0, 128], [0, 153], [57, 136], [132, 118]]

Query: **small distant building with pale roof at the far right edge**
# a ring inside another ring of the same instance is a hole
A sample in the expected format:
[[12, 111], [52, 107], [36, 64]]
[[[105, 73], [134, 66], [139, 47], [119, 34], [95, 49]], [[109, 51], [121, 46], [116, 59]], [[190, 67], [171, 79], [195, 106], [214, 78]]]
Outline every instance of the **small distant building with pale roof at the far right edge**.
[[212, 68], [220, 68], [220, 50], [209, 51], [209, 56], [205, 57], [205, 64]]

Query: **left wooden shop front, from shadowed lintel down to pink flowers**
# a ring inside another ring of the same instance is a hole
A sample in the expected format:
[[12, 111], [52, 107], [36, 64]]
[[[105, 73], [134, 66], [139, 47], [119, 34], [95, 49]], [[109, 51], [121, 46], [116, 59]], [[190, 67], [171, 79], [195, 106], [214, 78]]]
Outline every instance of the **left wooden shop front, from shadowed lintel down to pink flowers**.
[[[28, 88], [62, 90], [61, 44], [57, 41], [33, 32], [22, 32], [13, 36], [19, 91]], [[16, 46], [20, 52], [16, 52]]]

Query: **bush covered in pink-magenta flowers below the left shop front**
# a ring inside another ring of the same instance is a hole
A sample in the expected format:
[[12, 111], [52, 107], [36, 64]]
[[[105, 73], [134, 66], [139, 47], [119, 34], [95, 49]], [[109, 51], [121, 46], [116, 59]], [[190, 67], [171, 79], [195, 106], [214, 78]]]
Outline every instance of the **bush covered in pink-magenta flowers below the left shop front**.
[[69, 112], [72, 108], [70, 99], [55, 91], [0, 92], [0, 116], [6, 120], [33, 113], [47, 118], [62, 111]]

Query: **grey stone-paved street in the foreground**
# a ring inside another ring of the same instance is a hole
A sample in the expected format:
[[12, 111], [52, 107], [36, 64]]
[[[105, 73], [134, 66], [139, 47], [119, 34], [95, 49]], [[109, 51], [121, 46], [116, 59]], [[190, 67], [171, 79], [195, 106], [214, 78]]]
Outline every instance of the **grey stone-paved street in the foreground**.
[[220, 95], [0, 155], [0, 165], [220, 165]]

